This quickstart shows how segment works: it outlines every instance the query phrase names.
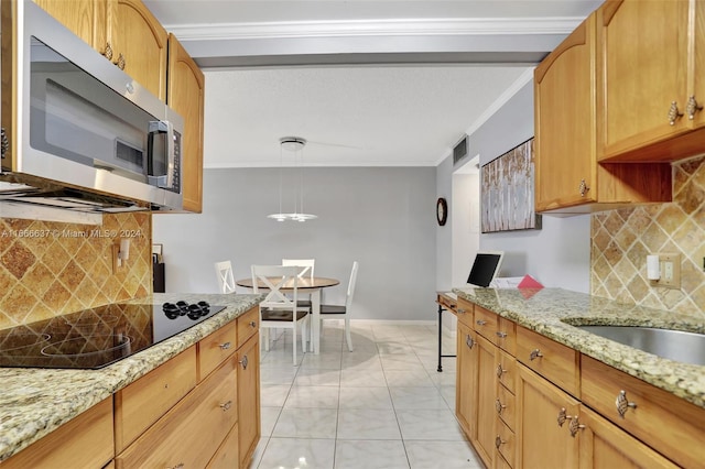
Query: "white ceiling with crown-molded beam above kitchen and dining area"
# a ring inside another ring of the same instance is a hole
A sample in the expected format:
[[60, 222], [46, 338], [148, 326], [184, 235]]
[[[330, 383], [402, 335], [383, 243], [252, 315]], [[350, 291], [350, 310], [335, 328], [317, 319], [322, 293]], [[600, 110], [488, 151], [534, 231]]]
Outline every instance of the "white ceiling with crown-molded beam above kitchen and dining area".
[[[601, 1], [145, 0], [206, 75], [206, 167], [434, 166]], [[283, 164], [293, 164], [284, 152]]]

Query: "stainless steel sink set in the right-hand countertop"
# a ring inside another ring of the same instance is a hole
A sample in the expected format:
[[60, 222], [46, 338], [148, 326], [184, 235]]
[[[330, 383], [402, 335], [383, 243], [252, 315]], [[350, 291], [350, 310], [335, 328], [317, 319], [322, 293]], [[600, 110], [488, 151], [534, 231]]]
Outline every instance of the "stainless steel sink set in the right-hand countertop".
[[705, 334], [640, 326], [576, 327], [669, 360], [705, 366]]

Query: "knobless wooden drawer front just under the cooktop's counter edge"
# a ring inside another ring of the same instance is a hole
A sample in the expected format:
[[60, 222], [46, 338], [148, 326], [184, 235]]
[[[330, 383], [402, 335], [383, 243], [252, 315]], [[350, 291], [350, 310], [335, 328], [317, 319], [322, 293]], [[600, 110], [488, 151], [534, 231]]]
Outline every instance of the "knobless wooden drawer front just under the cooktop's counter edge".
[[196, 385], [196, 346], [115, 394], [115, 448], [120, 452]]

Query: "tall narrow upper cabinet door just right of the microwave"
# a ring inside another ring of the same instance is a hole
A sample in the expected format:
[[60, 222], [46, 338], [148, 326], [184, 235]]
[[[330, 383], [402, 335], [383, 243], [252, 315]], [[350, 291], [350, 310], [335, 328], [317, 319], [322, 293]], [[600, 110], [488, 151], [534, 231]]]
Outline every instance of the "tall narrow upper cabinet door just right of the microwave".
[[203, 197], [203, 119], [205, 78], [198, 65], [169, 35], [169, 106], [184, 118], [182, 189], [184, 210], [200, 212]]

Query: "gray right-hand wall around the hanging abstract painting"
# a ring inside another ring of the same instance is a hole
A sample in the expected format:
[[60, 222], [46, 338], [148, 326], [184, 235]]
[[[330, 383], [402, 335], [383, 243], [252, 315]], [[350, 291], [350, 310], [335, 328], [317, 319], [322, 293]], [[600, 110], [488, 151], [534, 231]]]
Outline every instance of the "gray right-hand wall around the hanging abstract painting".
[[[480, 166], [529, 140], [533, 129], [533, 80], [469, 138]], [[502, 276], [530, 274], [545, 286], [589, 291], [590, 217], [543, 216], [541, 230], [480, 234], [480, 249], [503, 250]]]

